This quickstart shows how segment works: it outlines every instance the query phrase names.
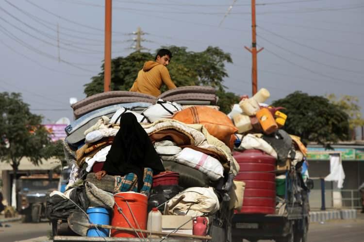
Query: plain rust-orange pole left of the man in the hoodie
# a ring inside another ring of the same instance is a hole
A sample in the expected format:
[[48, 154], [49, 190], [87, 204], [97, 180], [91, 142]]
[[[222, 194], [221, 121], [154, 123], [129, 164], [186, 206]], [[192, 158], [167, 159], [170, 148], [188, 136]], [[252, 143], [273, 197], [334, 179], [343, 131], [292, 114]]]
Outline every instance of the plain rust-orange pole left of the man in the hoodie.
[[105, 0], [105, 63], [104, 63], [104, 92], [110, 91], [111, 83], [111, 21], [112, 0]]

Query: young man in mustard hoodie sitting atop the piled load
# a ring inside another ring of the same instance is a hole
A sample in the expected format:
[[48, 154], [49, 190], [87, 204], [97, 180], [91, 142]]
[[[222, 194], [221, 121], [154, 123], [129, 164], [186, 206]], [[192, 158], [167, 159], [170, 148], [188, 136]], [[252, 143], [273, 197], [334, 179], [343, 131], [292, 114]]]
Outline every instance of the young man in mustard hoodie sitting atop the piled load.
[[166, 68], [171, 58], [172, 53], [169, 50], [159, 50], [155, 56], [155, 61], [144, 63], [143, 69], [138, 72], [138, 76], [129, 91], [158, 97], [161, 94], [162, 84], [165, 84], [168, 89], [176, 88]]

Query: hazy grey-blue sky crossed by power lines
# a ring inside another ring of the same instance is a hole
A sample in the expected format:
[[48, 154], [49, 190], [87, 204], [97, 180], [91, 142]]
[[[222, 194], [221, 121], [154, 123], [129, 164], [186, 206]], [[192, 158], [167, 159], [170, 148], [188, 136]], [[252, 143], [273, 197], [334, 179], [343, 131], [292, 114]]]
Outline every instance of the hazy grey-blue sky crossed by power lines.
[[[233, 60], [224, 85], [251, 95], [244, 49], [251, 45], [250, 0], [236, 0], [218, 27], [232, 2], [113, 0], [113, 57], [133, 51], [128, 34], [138, 26], [149, 33], [142, 45], [152, 52], [162, 45], [218, 46]], [[69, 98], [83, 99], [83, 85], [100, 71], [104, 0], [1, 0], [0, 12], [0, 91], [21, 92], [45, 123], [72, 120]], [[301, 90], [357, 96], [363, 106], [363, 23], [363, 0], [257, 0], [257, 43], [265, 48], [258, 88], [270, 91], [268, 103]]]

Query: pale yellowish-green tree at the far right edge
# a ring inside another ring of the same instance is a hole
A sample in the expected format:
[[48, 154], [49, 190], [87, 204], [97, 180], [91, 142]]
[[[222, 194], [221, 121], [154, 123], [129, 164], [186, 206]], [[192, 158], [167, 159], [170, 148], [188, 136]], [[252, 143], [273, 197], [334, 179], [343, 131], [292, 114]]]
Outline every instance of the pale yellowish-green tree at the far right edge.
[[340, 98], [337, 98], [335, 94], [329, 94], [327, 95], [327, 98], [332, 104], [338, 105], [341, 110], [347, 113], [349, 116], [349, 129], [351, 138], [355, 139], [355, 128], [364, 125], [364, 119], [362, 118], [360, 106], [358, 105], [358, 98], [349, 95], [344, 95]]

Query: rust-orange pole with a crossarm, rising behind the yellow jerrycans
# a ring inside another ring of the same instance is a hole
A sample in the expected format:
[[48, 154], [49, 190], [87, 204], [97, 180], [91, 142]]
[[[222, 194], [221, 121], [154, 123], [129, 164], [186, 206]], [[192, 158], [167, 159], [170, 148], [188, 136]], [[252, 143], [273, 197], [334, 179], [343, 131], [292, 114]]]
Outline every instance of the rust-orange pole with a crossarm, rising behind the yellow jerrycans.
[[252, 43], [251, 48], [245, 46], [251, 53], [252, 57], [252, 67], [251, 67], [251, 86], [252, 86], [252, 95], [257, 93], [257, 86], [258, 86], [258, 67], [257, 67], [257, 54], [261, 52], [264, 48], [257, 50], [257, 34], [256, 34], [256, 22], [255, 22], [255, 0], [251, 0], [251, 37]]

